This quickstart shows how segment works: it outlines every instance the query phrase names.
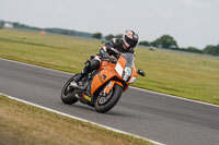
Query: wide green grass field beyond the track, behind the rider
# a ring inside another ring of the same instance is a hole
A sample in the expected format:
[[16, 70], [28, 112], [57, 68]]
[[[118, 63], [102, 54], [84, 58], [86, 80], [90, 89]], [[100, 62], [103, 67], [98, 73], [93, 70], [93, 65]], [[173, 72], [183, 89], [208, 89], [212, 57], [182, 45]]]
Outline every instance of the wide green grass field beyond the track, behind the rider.
[[[78, 73], [101, 41], [0, 29], [0, 57]], [[136, 48], [136, 67], [147, 76], [134, 86], [219, 105], [219, 58], [204, 55]]]

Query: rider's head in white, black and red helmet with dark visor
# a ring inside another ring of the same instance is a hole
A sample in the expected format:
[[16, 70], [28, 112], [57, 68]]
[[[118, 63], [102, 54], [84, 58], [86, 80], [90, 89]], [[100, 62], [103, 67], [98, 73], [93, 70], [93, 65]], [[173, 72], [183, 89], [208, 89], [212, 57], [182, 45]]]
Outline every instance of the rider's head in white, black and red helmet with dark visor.
[[138, 34], [130, 29], [126, 31], [126, 33], [123, 35], [123, 43], [125, 45], [124, 49], [136, 47], [138, 44]]

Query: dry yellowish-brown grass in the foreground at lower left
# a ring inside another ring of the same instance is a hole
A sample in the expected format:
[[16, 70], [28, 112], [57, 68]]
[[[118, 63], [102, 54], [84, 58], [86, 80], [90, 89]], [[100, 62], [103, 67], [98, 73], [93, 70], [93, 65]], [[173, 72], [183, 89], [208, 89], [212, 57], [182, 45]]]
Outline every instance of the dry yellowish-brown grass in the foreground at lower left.
[[0, 145], [152, 145], [0, 95]]

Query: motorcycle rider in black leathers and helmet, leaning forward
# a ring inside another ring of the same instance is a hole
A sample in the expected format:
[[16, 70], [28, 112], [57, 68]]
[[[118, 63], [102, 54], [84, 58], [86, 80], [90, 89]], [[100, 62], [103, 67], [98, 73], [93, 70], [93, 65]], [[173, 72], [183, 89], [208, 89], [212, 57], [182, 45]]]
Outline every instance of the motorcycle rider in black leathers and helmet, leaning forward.
[[134, 53], [134, 48], [138, 44], [138, 34], [130, 29], [126, 31], [126, 33], [123, 35], [123, 38], [112, 38], [100, 49], [100, 55], [85, 62], [85, 67], [81, 73], [73, 78], [73, 84], [71, 85], [78, 86], [78, 82], [80, 82], [82, 77], [100, 68], [102, 60], [110, 61], [111, 56], [116, 55], [115, 51]]

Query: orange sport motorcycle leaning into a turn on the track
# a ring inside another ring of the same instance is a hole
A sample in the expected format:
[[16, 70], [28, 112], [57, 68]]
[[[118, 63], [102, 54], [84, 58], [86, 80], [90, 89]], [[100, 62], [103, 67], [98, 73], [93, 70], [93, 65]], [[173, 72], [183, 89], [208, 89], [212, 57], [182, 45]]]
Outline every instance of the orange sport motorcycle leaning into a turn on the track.
[[[92, 59], [92, 58], [91, 58]], [[145, 76], [142, 70], [136, 71], [132, 53], [118, 53], [116, 59], [103, 60], [99, 70], [89, 73], [79, 83], [71, 86], [73, 75], [61, 90], [61, 100], [72, 105], [78, 100], [92, 106], [97, 112], [107, 112], [119, 100], [123, 92], [134, 83], [138, 74]]]

